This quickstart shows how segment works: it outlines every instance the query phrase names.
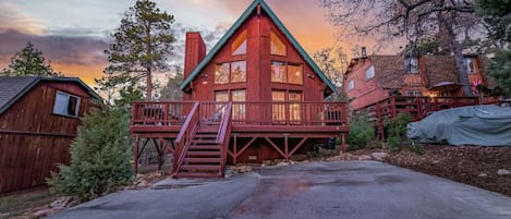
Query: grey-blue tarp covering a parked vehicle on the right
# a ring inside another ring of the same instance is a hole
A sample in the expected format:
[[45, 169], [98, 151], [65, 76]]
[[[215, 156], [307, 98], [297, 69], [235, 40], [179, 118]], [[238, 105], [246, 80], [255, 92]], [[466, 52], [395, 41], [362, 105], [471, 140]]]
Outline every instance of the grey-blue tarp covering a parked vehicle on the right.
[[410, 123], [406, 135], [421, 143], [511, 146], [511, 108], [479, 105], [441, 110]]

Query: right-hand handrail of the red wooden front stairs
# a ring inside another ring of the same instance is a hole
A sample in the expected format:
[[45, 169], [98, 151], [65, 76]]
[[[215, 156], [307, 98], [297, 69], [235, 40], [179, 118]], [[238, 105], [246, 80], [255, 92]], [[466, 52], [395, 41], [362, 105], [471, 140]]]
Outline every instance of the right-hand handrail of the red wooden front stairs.
[[218, 175], [223, 175], [223, 170], [226, 169], [227, 160], [227, 150], [229, 148], [229, 139], [231, 138], [231, 113], [232, 113], [232, 102], [227, 105], [226, 111], [223, 113], [222, 121], [219, 125], [219, 132], [217, 135], [217, 144], [220, 145], [220, 170]]

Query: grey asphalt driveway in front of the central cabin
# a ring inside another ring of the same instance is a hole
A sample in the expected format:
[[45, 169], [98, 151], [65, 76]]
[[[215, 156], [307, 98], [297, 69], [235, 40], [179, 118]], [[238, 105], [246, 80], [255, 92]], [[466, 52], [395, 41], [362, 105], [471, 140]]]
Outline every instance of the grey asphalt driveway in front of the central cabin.
[[157, 188], [111, 194], [50, 218], [511, 218], [510, 197], [376, 161], [265, 167]]

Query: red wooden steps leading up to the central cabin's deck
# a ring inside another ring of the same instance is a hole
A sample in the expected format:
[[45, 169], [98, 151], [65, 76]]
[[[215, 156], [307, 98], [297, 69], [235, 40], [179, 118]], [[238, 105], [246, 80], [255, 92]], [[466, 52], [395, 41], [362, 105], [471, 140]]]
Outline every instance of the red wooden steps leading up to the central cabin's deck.
[[198, 125], [191, 145], [174, 177], [218, 178], [223, 175], [221, 144], [217, 144], [220, 125]]

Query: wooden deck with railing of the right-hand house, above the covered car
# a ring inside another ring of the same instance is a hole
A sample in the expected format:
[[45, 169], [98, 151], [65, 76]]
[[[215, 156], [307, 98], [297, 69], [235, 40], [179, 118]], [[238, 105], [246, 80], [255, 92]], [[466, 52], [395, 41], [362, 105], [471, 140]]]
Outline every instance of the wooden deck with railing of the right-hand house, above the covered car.
[[479, 101], [478, 97], [389, 97], [376, 104], [354, 110], [355, 113], [366, 114], [370, 121], [374, 121], [378, 135], [384, 141], [385, 130], [384, 120], [394, 118], [399, 113], [410, 113], [414, 121], [422, 120], [433, 112], [473, 105], [498, 105], [511, 106], [511, 101]]

